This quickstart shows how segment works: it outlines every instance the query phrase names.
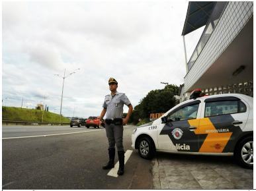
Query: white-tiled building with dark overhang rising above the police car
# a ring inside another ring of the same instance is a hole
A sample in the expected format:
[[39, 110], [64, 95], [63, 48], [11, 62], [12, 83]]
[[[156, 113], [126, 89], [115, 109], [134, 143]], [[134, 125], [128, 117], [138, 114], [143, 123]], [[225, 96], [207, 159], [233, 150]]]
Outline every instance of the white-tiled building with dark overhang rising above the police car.
[[183, 40], [204, 25], [186, 61], [180, 101], [188, 99], [196, 88], [206, 95], [239, 93], [253, 97], [253, 2], [189, 2]]

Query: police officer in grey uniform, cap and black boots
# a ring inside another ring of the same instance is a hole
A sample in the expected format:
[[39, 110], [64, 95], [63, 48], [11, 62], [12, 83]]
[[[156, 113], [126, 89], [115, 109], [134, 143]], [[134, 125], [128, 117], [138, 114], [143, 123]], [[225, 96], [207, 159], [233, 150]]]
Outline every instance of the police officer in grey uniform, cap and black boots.
[[[115, 145], [118, 152], [119, 169], [118, 175], [124, 174], [124, 147], [122, 145], [123, 136], [123, 124], [128, 123], [130, 115], [132, 114], [132, 104], [128, 97], [116, 91], [118, 88], [118, 82], [114, 78], [108, 80], [109, 90], [111, 94], [105, 96], [103, 103], [103, 111], [101, 111], [100, 120], [106, 114], [105, 129], [108, 138], [108, 155], [109, 161], [107, 165], [103, 166], [103, 169], [114, 168], [114, 155]], [[129, 111], [126, 118], [122, 119], [124, 104], [129, 107]]]

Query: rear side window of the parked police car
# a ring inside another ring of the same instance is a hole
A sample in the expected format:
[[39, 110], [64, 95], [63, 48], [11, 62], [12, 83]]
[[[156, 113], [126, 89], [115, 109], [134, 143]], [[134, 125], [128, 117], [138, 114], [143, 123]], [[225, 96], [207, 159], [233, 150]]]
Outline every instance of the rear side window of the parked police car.
[[205, 103], [204, 117], [242, 113], [245, 111], [246, 106], [242, 101], [212, 101]]

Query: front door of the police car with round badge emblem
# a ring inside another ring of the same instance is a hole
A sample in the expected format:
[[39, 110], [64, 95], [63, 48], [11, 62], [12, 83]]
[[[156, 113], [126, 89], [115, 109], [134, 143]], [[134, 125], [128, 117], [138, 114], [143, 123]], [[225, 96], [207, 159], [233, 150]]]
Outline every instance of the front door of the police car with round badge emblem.
[[166, 115], [167, 123], [159, 124], [157, 141], [159, 150], [198, 151], [200, 101], [185, 103]]

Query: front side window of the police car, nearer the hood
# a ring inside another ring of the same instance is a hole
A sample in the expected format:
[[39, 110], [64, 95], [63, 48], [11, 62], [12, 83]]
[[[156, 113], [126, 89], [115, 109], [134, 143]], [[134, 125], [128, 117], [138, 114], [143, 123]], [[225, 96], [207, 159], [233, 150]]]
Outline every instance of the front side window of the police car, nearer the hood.
[[188, 119], [196, 119], [199, 103], [194, 105], [187, 105], [181, 109], [169, 113], [167, 115], [168, 121], [183, 121]]

